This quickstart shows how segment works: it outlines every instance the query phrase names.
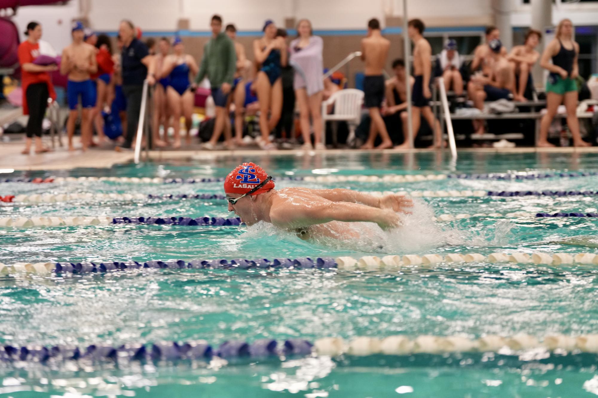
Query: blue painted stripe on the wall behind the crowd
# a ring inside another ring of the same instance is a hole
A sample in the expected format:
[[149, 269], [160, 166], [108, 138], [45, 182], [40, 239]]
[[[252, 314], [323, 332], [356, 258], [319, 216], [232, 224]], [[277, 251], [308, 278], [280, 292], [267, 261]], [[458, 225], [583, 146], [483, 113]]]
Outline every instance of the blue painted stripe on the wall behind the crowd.
[[[484, 32], [484, 26], [451, 26], [451, 27], [428, 27], [426, 29], [426, 33], [434, 32], [434, 33], [459, 33], [459, 32]], [[286, 32], [289, 36], [297, 35], [297, 30], [295, 29], [287, 29]], [[115, 37], [118, 35], [118, 32], [115, 31], [108, 31], [105, 32], [106, 35]], [[386, 29], [382, 30], [382, 33], [385, 35], [400, 35], [402, 33], [401, 27], [387, 27]], [[314, 35], [318, 36], [365, 36], [367, 34], [367, 30], [365, 29], [323, 29], [323, 30], [314, 30]], [[209, 30], [148, 30], [144, 32], [144, 36], [167, 36], [172, 37], [175, 35], [179, 36], [186, 36], [186, 37], [209, 37], [212, 35], [212, 32]], [[237, 32], [237, 36], [244, 36], [244, 37], [257, 37], [261, 36], [261, 30], [240, 30]]]

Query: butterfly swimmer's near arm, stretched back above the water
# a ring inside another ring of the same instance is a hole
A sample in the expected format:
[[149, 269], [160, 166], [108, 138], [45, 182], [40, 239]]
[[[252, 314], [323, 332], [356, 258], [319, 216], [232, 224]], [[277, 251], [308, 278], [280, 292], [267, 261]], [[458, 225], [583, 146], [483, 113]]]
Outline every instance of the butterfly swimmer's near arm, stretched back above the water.
[[302, 228], [329, 221], [370, 222], [382, 229], [399, 225], [399, 216], [392, 209], [379, 209], [359, 203], [321, 202], [295, 203], [292, 211], [284, 205], [272, 206], [270, 221], [282, 228]]

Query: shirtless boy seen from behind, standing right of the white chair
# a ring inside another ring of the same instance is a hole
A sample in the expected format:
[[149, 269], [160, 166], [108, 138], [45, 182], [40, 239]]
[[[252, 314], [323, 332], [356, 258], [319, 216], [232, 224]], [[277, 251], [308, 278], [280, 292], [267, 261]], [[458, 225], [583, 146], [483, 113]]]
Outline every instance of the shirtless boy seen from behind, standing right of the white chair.
[[361, 59], [365, 61], [365, 107], [370, 111], [370, 136], [361, 149], [373, 149], [378, 134], [382, 143], [376, 149], [392, 148], [392, 140], [386, 131], [386, 125], [380, 115], [384, 100], [385, 80], [382, 71], [388, 58], [390, 41], [382, 37], [380, 22], [373, 18], [368, 22], [368, 35], [361, 40]]

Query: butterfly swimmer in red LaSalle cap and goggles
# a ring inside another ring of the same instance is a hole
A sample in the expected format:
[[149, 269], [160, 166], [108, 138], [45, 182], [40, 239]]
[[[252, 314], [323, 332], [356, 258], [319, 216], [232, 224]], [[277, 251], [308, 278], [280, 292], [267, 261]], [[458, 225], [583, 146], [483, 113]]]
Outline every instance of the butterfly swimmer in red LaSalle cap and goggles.
[[401, 224], [411, 199], [399, 195], [376, 198], [350, 189], [274, 189], [274, 181], [255, 163], [237, 166], [224, 181], [228, 211], [249, 226], [265, 221], [297, 233], [314, 236], [352, 235], [341, 222], [365, 221], [388, 230]]

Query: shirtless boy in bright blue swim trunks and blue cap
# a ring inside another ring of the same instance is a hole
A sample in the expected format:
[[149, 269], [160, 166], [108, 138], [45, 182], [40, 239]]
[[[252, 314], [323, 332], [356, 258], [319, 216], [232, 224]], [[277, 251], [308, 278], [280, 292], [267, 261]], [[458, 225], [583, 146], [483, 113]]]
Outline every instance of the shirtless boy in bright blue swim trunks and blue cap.
[[75, 22], [72, 27], [73, 42], [62, 51], [60, 73], [68, 75], [66, 95], [68, 97], [69, 119], [66, 124], [69, 150], [74, 150], [73, 134], [77, 122], [77, 106], [81, 98], [81, 149], [87, 150], [91, 142], [91, 109], [96, 106], [96, 90], [90, 79], [96, 73], [96, 48], [83, 41], [83, 24]]

